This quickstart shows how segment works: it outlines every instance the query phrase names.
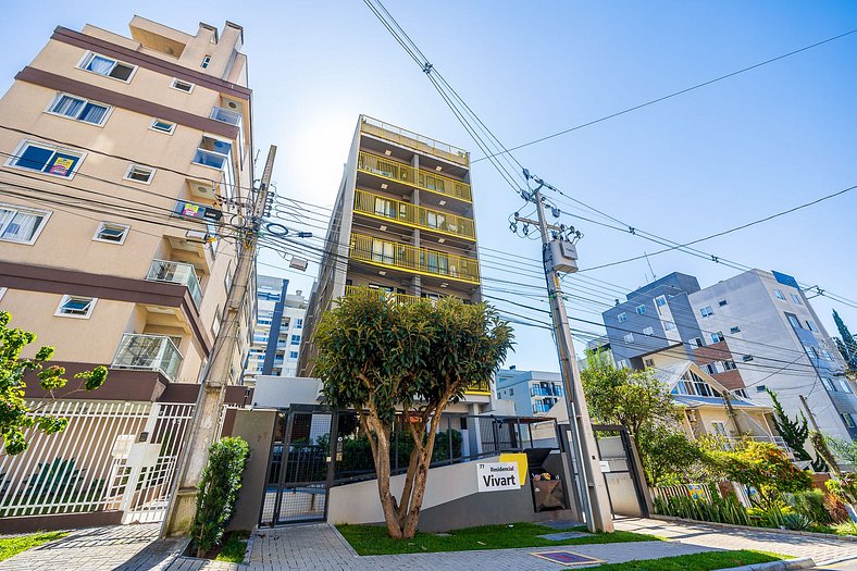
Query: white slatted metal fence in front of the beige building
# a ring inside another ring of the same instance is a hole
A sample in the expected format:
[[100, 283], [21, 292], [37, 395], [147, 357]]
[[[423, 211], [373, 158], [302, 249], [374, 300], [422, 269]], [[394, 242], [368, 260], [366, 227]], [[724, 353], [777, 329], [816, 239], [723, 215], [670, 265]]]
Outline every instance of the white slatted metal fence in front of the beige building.
[[125, 511], [124, 522], [163, 518], [192, 405], [55, 400], [37, 415], [69, 419], [55, 434], [27, 431], [29, 448], [0, 456], [0, 518]]

